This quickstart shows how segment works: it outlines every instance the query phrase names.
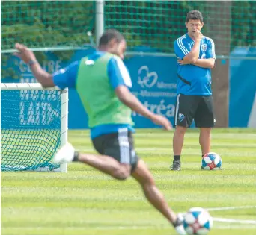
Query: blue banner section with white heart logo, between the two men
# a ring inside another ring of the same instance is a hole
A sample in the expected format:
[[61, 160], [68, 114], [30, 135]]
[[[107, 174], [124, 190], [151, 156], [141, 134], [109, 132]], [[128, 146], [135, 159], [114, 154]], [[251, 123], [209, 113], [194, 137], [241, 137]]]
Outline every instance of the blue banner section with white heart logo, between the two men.
[[[176, 103], [176, 59], [135, 56], [124, 61], [132, 78], [132, 93], [153, 113], [174, 122]], [[132, 113], [136, 128], [155, 128], [149, 119]]]

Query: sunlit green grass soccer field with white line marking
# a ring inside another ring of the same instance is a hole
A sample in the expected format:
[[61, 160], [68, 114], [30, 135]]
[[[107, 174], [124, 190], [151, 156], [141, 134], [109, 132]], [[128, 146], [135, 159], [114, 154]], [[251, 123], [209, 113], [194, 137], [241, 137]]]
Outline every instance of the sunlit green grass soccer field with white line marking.
[[[210, 234], [256, 234], [256, 129], [214, 129], [212, 151], [222, 171], [201, 171], [198, 131], [185, 137], [182, 171], [171, 172], [173, 131], [137, 130], [135, 148], [176, 212], [210, 209]], [[69, 141], [94, 153], [88, 131]], [[1, 172], [1, 234], [170, 235], [174, 229], [129, 178], [116, 181], [70, 163], [67, 174]]]

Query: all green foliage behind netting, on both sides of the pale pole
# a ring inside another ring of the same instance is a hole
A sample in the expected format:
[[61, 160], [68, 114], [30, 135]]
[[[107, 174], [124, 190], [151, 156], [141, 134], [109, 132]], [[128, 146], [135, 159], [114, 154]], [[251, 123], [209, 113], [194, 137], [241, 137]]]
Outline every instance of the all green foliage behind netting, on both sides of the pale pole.
[[[217, 12], [216, 11], [216, 6]], [[83, 46], [94, 32], [94, 1], [1, 1], [1, 50], [14, 43], [30, 48]], [[221, 2], [216, 1], [105, 1], [105, 28], [124, 33], [129, 50], [148, 46], [173, 53], [173, 43], [186, 33], [189, 10], [204, 13], [203, 33], [216, 37], [211, 25], [222, 24]], [[231, 1], [231, 46], [256, 46], [256, 1]], [[210, 16], [209, 16], [210, 15]], [[73, 51], [54, 51], [61, 60]], [[44, 53], [37, 53], [40, 60]], [[1, 53], [1, 76], [13, 74], [6, 66], [8, 54]], [[15, 78], [14, 75], [12, 75]]]

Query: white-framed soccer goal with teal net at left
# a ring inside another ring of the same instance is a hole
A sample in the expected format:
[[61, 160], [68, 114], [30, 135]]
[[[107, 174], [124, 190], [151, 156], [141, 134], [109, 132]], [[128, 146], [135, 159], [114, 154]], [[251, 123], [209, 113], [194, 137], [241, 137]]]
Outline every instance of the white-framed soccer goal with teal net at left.
[[1, 84], [1, 171], [67, 172], [53, 155], [67, 142], [68, 90]]

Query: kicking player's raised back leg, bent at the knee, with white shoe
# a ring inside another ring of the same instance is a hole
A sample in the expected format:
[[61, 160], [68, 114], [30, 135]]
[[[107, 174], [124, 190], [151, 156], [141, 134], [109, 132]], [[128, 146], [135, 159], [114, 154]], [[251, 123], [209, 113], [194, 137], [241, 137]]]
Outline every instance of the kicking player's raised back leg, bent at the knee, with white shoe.
[[52, 159], [53, 163], [68, 163], [79, 161], [104, 172], [118, 180], [125, 180], [129, 177], [131, 166], [118, 163], [113, 157], [106, 155], [81, 154], [75, 151], [70, 143], [64, 145]]

